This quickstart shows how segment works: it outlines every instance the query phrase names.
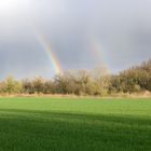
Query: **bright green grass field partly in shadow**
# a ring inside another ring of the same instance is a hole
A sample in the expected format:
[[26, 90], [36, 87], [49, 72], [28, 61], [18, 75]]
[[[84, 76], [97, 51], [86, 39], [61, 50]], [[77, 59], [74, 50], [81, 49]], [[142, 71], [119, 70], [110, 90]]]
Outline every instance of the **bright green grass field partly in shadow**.
[[151, 151], [151, 99], [0, 98], [1, 151]]

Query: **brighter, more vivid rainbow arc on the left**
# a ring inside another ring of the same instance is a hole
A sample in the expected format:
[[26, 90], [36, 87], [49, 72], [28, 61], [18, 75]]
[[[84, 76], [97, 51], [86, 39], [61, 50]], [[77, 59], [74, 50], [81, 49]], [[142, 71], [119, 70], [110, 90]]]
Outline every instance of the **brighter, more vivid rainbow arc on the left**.
[[55, 71], [56, 74], [61, 74], [63, 73], [63, 68], [61, 65], [54, 53], [52, 45], [50, 44], [47, 38], [44, 35], [40, 35], [37, 32], [37, 38], [41, 45], [43, 46], [43, 51], [45, 51], [45, 54], [49, 56], [49, 59], [52, 63], [53, 70]]

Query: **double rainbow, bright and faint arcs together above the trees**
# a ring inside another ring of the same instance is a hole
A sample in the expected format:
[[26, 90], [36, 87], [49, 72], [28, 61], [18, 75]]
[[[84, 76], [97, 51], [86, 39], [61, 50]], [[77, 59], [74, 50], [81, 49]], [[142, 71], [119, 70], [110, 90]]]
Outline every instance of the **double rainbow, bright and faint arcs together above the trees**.
[[[39, 42], [41, 43], [43, 51], [46, 53], [49, 59], [51, 60], [53, 70], [56, 74], [63, 73], [61, 65], [55, 54], [55, 52], [52, 49], [52, 45], [50, 44], [50, 41], [47, 40], [45, 35], [42, 35], [40, 32], [37, 32], [37, 38]], [[94, 37], [91, 37], [91, 51], [95, 55], [96, 59], [99, 59], [99, 66], [106, 73], [110, 73], [110, 69], [105, 60], [105, 52], [102, 52], [102, 46], [99, 43], [99, 40], [97, 40]]]

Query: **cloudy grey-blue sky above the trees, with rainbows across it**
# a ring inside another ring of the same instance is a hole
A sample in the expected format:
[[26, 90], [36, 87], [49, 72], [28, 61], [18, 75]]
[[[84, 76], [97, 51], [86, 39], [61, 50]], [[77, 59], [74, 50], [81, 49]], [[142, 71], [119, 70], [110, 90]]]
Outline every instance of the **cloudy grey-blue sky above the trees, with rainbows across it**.
[[151, 58], [150, 14], [150, 0], [0, 0], [0, 79], [138, 65]]

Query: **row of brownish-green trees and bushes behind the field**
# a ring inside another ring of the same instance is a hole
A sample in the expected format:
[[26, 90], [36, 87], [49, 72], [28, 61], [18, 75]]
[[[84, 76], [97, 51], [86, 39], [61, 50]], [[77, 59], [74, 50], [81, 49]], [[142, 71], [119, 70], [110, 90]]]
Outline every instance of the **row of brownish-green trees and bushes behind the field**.
[[15, 80], [12, 77], [0, 82], [0, 94], [73, 94], [108, 96], [119, 93], [151, 92], [151, 59], [116, 74], [106, 68], [93, 71], [70, 70], [51, 80], [41, 77], [33, 80]]

